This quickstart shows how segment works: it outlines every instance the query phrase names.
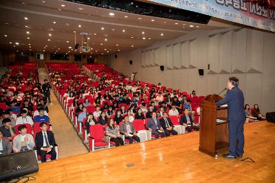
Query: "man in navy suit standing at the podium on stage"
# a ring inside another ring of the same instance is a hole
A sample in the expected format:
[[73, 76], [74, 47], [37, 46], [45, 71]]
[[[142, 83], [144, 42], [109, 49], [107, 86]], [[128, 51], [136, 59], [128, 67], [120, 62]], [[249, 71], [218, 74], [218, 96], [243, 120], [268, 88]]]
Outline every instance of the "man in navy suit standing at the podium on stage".
[[224, 154], [223, 157], [230, 159], [243, 156], [245, 111], [243, 92], [238, 88], [238, 85], [239, 79], [230, 77], [228, 80], [228, 93], [226, 93], [224, 99], [216, 103], [217, 106], [228, 104], [229, 154]]

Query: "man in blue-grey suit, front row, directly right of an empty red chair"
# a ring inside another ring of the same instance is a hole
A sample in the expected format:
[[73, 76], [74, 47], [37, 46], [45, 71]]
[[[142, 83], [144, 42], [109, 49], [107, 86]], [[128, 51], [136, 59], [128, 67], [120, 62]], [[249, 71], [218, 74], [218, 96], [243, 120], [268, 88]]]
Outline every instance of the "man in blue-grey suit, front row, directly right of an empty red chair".
[[162, 137], [165, 136], [164, 129], [159, 123], [159, 119], [157, 119], [157, 113], [152, 113], [152, 118], [148, 119], [147, 123], [148, 130], [151, 132], [151, 134], [155, 134], [155, 138], [159, 138], [159, 135]]

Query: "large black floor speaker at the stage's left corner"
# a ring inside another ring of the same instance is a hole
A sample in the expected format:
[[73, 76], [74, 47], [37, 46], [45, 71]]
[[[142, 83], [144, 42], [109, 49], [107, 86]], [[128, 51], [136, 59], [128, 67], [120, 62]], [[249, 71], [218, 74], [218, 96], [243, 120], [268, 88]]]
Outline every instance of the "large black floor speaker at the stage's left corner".
[[39, 164], [32, 150], [0, 156], [0, 181], [19, 178], [37, 171]]

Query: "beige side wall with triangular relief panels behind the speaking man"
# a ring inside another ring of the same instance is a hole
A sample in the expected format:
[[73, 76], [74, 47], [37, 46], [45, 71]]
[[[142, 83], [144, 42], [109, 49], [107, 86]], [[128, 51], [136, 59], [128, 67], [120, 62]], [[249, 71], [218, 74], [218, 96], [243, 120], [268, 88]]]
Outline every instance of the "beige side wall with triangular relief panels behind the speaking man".
[[[275, 111], [275, 34], [253, 29], [195, 31], [151, 47], [109, 56], [107, 64], [137, 80], [197, 95], [219, 93], [228, 77], [240, 80], [245, 103], [258, 103], [262, 112]], [[133, 60], [133, 64], [129, 64]], [[210, 69], [208, 70], [208, 64]], [[164, 65], [164, 71], [159, 66]], [[199, 76], [198, 69], [204, 69]]]

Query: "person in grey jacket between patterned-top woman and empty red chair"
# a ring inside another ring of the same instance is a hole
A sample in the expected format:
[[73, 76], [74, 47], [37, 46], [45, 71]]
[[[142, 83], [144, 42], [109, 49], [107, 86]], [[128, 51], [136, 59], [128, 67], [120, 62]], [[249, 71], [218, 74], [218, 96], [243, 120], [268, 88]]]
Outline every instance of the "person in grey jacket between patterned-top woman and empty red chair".
[[140, 142], [140, 137], [137, 136], [135, 132], [135, 128], [133, 127], [133, 123], [129, 121], [129, 117], [124, 117], [124, 122], [121, 123], [120, 133], [124, 134], [125, 138], [129, 139], [129, 143], [133, 143], [133, 140]]

